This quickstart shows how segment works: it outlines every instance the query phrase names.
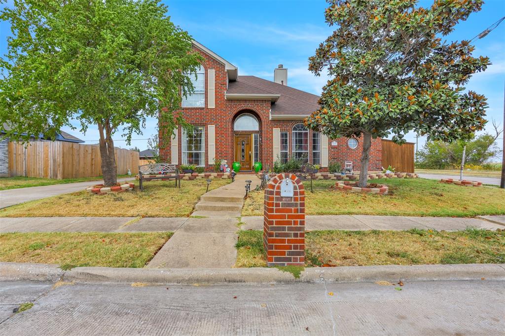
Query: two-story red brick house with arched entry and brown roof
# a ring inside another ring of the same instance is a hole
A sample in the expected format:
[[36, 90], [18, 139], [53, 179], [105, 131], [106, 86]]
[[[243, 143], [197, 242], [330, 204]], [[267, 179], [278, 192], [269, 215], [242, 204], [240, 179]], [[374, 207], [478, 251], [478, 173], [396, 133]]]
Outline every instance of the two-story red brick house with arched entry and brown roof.
[[[294, 157], [319, 164], [352, 161], [360, 169], [361, 139], [328, 139], [303, 125], [305, 117], [318, 108], [319, 96], [287, 84], [287, 69], [279, 65], [274, 81], [255, 76], [238, 76], [238, 69], [212, 50], [194, 41], [193, 48], [205, 59], [193, 78], [195, 91], [183, 97], [175, 115], [194, 126], [193, 134], [181, 127], [170, 143], [160, 143], [167, 162], [196, 164], [213, 169], [215, 159], [238, 161], [241, 171], [272, 167], [277, 158]], [[163, 113], [163, 112], [162, 112]], [[160, 139], [163, 137], [160, 136]], [[370, 171], [380, 170], [381, 140], [372, 140]]]

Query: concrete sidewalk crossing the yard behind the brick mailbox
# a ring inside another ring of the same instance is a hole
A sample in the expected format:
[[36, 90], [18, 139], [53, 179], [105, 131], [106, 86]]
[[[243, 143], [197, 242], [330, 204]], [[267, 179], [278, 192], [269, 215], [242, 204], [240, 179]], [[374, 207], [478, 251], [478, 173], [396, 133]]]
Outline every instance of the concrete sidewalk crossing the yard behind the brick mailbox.
[[[0, 233], [6, 232], [154, 232], [235, 233], [238, 218], [188, 217], [0, 217]], [[131, 223], [130, 223], [131, 221]], [[241, 217], [240, 230], [262, 230], [263, 217]], [[306, 230], [465, 230], [467, 227], [505, 230], [505, 216], [480, 218], [405, 217], [369, 215], [307, 216]], [[173, 239], [173, 238], [172, 238]]]

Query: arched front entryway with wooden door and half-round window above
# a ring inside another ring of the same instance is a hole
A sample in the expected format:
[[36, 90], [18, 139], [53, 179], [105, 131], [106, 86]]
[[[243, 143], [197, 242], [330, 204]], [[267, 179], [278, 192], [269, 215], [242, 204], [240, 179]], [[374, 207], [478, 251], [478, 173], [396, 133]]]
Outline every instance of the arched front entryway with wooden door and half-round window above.
[[261, 120], [251, 110], [239, 111], [233, 119], [234, 161], [240, 162], [240, 171], [252, 171], [260, 160]]

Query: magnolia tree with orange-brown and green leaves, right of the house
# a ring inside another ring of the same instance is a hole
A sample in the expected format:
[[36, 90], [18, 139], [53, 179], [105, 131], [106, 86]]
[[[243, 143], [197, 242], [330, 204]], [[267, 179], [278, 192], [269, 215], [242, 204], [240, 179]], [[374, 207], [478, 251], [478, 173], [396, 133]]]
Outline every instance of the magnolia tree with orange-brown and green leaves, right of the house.
[[372, 138], [404, 143], [414, 131], [451, 142], [482, 130], [483, 95], [464, 93], [470, 76], [490, 64], [472, 56], [468, 41], [442, 41], [455, 25], [479, 11], [481, 0], [331, 0], [326, 22], [337, 29], [309, 59], [309, 70], [328, 69], [320, 109], [305, 120], [330, 137], [363, 142], [358, 185], [368, 177]]

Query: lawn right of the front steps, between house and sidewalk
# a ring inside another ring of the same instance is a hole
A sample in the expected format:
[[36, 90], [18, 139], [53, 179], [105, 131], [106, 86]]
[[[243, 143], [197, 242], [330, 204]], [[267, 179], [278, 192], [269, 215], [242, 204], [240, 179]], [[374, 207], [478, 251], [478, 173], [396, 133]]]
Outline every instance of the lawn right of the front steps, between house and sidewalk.
[[[369, 214], [404, 216], [472, 217], [505, 214], [505, 190], [465, 187], [427, 179], [372, 180], [389, 186], [389, 195], [356, 194], [334, 189], [335, 181], [304, 182], [309, 215]], [[263, 215], [263, 191], [245, 200], [242, 216]]]

